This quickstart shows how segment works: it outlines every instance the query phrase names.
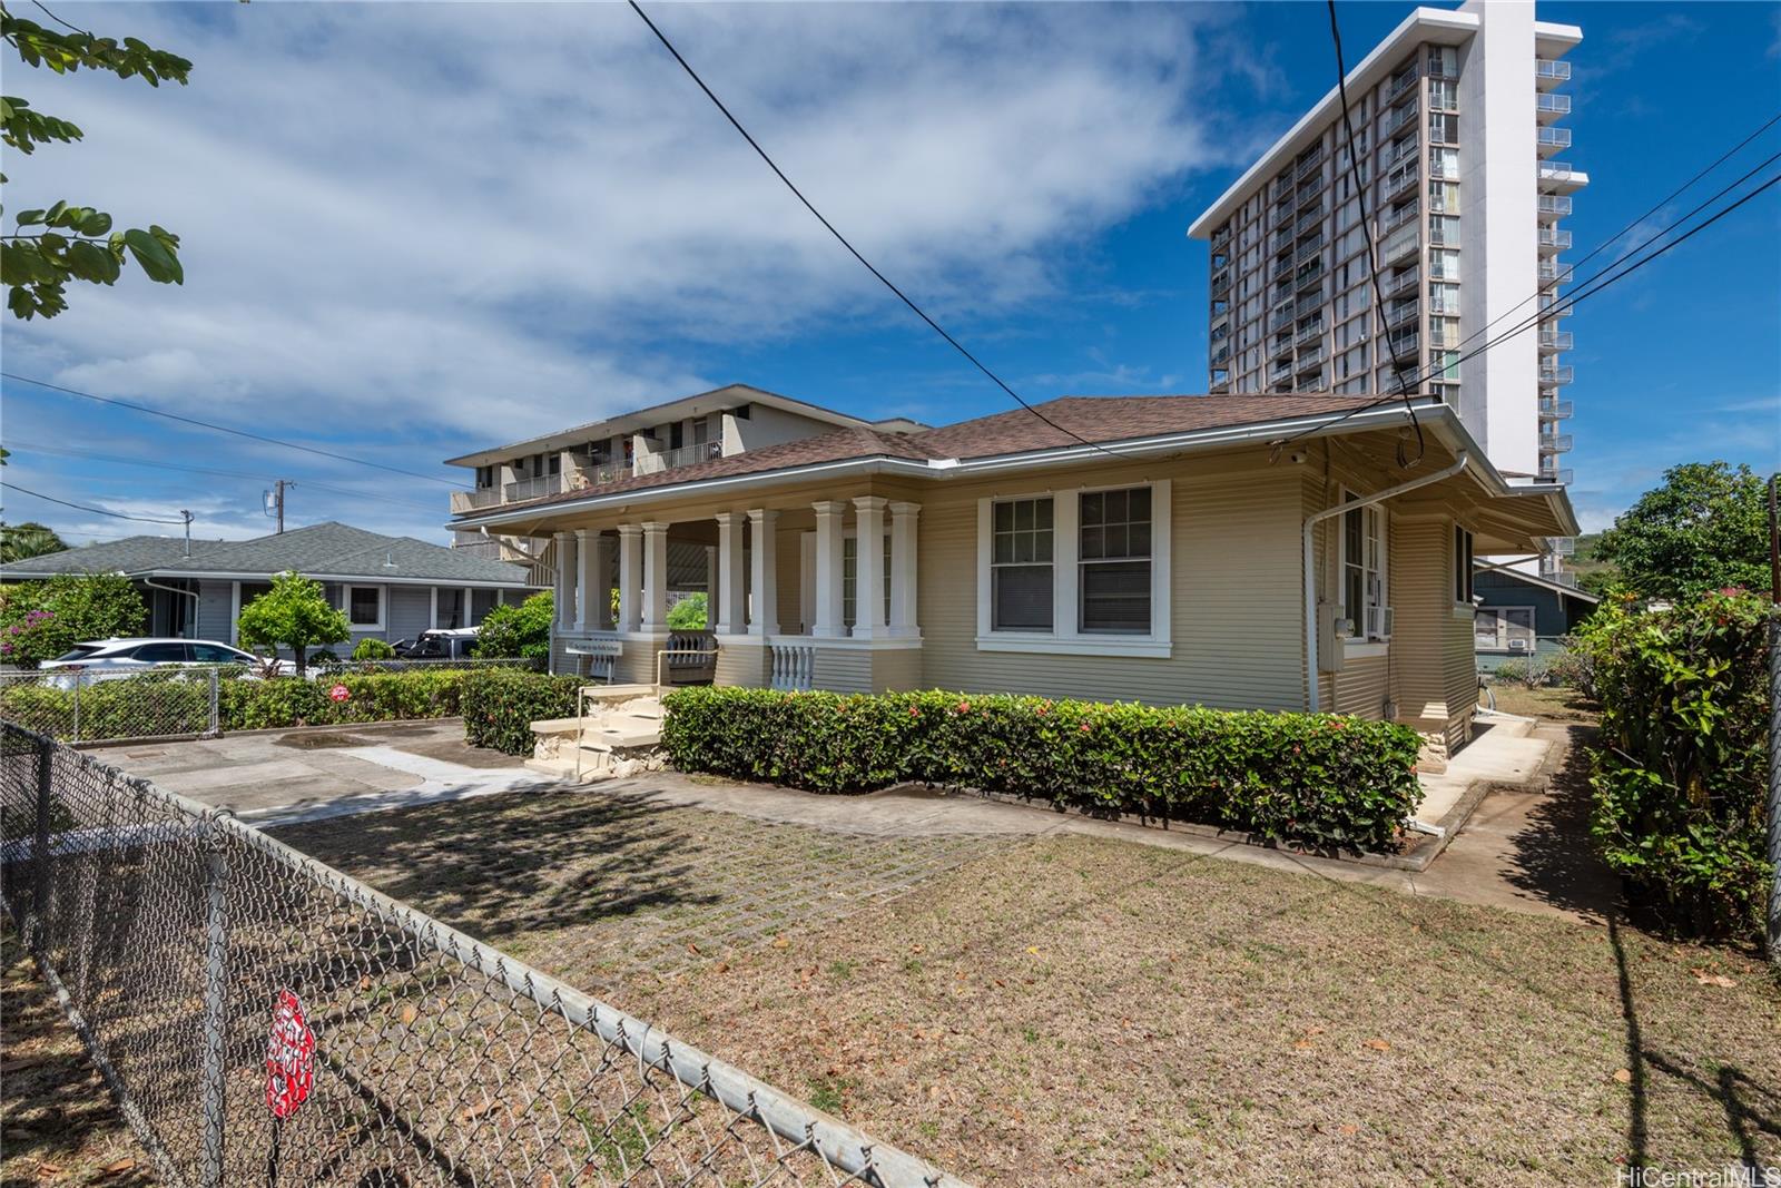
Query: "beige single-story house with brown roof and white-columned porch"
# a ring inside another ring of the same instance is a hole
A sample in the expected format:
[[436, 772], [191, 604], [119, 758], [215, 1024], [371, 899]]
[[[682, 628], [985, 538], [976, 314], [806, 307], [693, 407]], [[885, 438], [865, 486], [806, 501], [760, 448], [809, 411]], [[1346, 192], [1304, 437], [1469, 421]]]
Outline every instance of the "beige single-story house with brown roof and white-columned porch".
[[1471, 734], [1473, 556], [1578, 531], [1437, 399], [1302, 394], [823, 424], [452, 529], [550, 541], [559, 671], [655, 680], [668, 549], [696, 543], [718, 684], [1336, 711], [1432, 762]]

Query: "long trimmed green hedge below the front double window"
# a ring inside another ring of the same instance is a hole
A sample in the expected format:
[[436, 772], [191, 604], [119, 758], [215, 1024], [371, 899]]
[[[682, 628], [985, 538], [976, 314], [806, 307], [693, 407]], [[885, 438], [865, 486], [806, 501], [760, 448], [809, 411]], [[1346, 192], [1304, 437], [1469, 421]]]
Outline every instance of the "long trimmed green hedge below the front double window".
[[1332, 714], [730, 688], [679, 689], [664, 705], [680, 769], [817, 793], [915, 780], [1325, 851], [1395, 848], [1421, 798], [1414, 730]]

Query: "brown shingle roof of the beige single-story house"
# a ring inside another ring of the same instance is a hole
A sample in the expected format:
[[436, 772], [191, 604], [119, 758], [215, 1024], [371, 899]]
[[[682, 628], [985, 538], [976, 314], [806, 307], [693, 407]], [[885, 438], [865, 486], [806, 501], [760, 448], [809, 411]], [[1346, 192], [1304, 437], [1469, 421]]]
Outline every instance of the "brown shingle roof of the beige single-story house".
[[[921, 433], [889, 433], [882, 429], [837, 429], [798, 442], [766, 445], [728, 458], [712, 458], [691, 467], [639, 474], [614, 483], [561, 492], [547, 499], [529, 500], [527, 508], [588, 499], [590, 495], [620, 495], [623, 492], [659, 486], [679, 486], [705, 479], [723, 479], [743, 474], [768, 474], [825, 461], [853, 461], [867, 458], [907, 458], [928, 461], [935, 458], [994, 458], [1042, 449], [1063, 449], [1094, 443], [1129, 442], [1165, 433], [1195, 429], [1222, 429], [1231, 426], [1341, 413], [1371, 404], [1377, 395], [1063, 395], [1038, 404], [1045, 420], [1069, 429], [1056, 429], [1024, 408], [990, 417], [976, 417], [956, 424], [924, 429]], [[506, 511], [508, 508], [500, 508]]]

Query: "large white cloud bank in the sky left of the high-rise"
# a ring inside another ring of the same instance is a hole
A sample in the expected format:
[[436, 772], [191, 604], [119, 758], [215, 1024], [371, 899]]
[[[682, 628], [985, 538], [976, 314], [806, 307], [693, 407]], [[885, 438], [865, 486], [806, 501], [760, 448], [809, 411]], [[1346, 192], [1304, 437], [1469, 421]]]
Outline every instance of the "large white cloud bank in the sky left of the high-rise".
[[[1216, 159], [1186, 105], [1215, 20], [1197, 9], [655, 16], [869, 258], [960, 319], [1051, 294], [1061, 248]], [[905, 317], [620, 5], [94, 4], [82, 21], [183, 53], [192, 85], [21, 75], [87, 141], [11, 160], [9, 203], [164, 223], [187, 283], [132, 271], [52, 322], [9, 321], [11, 370], [474, 445], [705, 385], [663, 340]]]

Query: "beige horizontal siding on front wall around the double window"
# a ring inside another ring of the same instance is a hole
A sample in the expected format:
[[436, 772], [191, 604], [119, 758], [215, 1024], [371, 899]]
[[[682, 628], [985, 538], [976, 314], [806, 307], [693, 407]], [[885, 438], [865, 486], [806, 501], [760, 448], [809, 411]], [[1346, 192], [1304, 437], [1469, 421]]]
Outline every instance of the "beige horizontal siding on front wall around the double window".
[[[1090, 700], [1300, 709], [1300, 488], [1295, 472], [1172, 479], [1172, 655], [980, 652], [976, 495], [924, 500], [919, 534], [923, 684]], [[1136, 476], [1134, 476], [1136, 477]], [[1106, 479], [1102, 479], [1106, 481]], [[1060, 484], [1061, 488], [1061, 484]]]

